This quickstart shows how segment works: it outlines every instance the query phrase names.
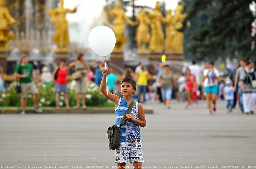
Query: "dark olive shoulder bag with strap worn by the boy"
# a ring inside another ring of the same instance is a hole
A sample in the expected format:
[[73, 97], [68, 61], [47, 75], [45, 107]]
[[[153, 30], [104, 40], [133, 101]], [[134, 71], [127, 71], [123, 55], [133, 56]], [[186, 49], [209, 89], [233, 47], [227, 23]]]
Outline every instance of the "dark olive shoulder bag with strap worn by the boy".
[[124, 122], [126, 120], [126, 114], [129, 114], [132, 110], [132, 107], [134, 106], [136, 102], [132, 100], [132, 103], [130, 106], [127, 108], [122, 121], [120, 122], [120, 127], [117, 127], [117, 125], [110, 126], [107, 130], [107, 136], [108, 136], [108, 141], [109, 141], [109, 150], [116, 150], [119, 145], [120, 145], [120, 129], [121, 126], [124, 125]]

